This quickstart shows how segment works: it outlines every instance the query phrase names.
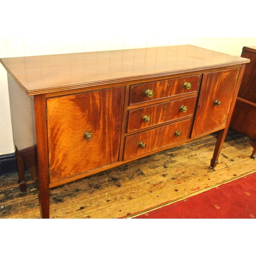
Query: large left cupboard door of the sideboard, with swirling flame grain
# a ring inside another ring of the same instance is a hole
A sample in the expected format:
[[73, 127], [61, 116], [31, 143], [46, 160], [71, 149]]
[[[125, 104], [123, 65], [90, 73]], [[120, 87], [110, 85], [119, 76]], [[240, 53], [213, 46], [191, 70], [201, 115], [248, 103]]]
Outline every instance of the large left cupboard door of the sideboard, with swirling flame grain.
[[50, 183], [118, 161], [124, 88], [47, 99]]

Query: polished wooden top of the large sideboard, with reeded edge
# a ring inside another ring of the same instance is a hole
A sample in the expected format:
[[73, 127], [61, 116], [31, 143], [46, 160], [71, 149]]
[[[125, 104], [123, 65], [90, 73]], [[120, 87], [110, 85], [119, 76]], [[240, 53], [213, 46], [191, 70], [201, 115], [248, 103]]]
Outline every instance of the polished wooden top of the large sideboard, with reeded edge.
[[249, 62], [204, 48], [182, 45], [0, 59], [28, 95], [228, 67]]

